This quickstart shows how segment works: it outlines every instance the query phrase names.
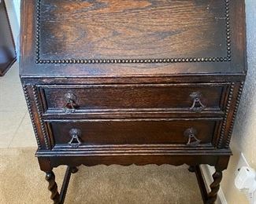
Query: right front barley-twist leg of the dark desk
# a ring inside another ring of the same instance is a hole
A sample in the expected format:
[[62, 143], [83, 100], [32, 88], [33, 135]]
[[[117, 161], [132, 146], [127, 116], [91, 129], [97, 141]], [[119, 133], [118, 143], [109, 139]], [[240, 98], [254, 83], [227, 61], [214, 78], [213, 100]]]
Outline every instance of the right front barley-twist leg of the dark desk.
[[213, 173], [213, 183], [210, 184], [210, 193], [208, 194], [208, 199], [206, 203], [212, 204], [217, 199], [217, 191], [220, 189], [220, 183], [222, 179], [222, 172], [216, 171]]

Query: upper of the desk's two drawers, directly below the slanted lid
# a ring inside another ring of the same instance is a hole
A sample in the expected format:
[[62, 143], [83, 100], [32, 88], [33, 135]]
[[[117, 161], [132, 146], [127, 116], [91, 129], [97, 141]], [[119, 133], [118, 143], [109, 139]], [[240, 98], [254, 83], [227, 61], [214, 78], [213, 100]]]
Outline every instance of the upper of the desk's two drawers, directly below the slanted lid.
[[226, 84], [40, 86], [44, 111], [220, 111]]

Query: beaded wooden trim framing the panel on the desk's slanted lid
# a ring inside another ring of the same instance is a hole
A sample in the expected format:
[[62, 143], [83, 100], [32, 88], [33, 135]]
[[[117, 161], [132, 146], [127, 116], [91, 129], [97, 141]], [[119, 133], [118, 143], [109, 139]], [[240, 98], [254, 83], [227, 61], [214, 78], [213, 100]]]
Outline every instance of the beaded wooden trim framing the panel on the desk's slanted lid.
[[35, 27], [35, 63], [36, 64], [150, 64], [150, 63], [195, 63], [195, 62], [224, 62], [231, 61], [231, 28], [229, 17], [229, 0], [224, 1], [225, 33], [226, 33], [226, 56], [209, 57], [177, 57], [164, 59], [56, 59], [47, 60], [40, 57], [40, 30], [41, 30], [41, 2], [37, 0], [36, 5], [36, 27]]

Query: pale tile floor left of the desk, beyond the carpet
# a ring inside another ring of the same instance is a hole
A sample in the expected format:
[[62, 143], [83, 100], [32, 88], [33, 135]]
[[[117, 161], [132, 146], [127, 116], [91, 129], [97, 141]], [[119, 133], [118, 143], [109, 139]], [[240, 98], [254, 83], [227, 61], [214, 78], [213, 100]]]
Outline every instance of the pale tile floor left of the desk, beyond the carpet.
[[0, 77], [0, 148], [36, 147], [18, 64]]

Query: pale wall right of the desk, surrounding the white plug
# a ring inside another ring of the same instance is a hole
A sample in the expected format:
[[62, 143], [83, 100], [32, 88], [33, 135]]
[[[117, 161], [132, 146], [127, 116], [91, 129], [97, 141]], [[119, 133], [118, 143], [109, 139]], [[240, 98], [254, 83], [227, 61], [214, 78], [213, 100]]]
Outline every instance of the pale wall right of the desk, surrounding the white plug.
[[256, 1], [246, 0], [246, 4], [248, 75], [232, 136], [231, 148], [234, 155], [228, 169], [224, 171], [221, 183], [228, 204], [249, 203], [234, 185], [239, 153], [243, 152], [249, 165], [256, 169]]

